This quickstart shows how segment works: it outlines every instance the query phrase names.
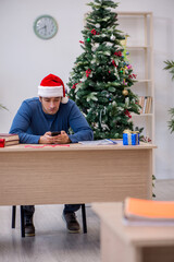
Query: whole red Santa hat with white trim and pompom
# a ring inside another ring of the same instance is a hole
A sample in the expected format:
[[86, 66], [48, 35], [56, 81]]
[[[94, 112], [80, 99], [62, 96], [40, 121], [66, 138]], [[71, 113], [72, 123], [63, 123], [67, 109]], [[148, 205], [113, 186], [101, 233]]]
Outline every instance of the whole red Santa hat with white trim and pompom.
[[69, 102], [69, 98], [65, 97], [63, 81], [54, 74], [49, 74], [41, 80], [38, 86], [38, 95], [41, 97], [62, 97], [61, 102], [63, 104]]

